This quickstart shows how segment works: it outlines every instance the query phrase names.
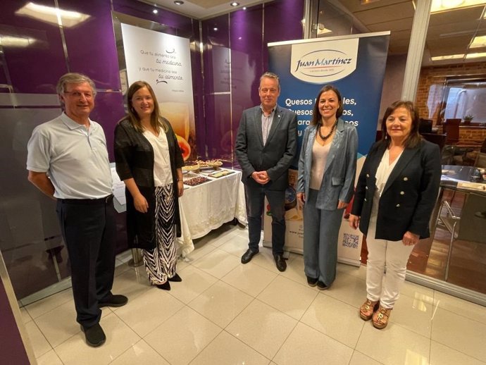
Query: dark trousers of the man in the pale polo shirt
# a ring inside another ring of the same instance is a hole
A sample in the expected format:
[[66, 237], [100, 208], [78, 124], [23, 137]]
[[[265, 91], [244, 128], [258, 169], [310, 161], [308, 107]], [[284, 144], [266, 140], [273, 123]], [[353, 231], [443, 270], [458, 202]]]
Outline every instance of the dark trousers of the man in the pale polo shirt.
[[58, 199], [56, 211], [71, 263], [76, 321], [89, 328], [101, 318], [98, 301], [111, 297], [116, 246], [113, 198]]

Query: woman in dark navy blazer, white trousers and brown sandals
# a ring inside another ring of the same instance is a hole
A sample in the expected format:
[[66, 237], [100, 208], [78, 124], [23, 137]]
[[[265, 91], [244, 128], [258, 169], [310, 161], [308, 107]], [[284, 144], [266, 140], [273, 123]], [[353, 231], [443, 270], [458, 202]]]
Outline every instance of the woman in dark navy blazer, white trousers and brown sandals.
[[[411, 101], [395, 101], [382, 119], [382, 140], [371, 147], [356, 185], [349, 225], [366, 235], [367, 298], [359, 309], [385, 328], [405, 280], [406, 263], [429, 220], [440, 184], [440, 149], [418, 134]], [[385, 282], [382, 282], [387, 267]]]

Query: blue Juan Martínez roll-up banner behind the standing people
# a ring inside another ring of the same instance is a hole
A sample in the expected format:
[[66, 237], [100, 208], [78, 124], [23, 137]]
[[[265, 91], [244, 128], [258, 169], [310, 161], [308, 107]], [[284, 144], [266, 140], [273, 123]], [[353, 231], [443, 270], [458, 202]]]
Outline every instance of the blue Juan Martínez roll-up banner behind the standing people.
[[[375, 142], [389, 40], [390, 32], [377, 32], [268, 44], [268, 70], [279, 76], [282, 88], [278, 103], [297, 114], [298, 154], [316, 96], [324, 85], [332, 84], [342, 94], [341, 118], [358, 130], [358, 178], [368, 149]], [[289, 170], [285, 194], [285, 250], [302, 253], [305, 228], [295, 192], [297, 161], [298, 156]], [[265, 213], [263, 245], [270, 247], [272, 219], [268, 204]], [[359, 230], [349, 228], [344, 214], [338, 261], [359, 266], [362, 240]]]

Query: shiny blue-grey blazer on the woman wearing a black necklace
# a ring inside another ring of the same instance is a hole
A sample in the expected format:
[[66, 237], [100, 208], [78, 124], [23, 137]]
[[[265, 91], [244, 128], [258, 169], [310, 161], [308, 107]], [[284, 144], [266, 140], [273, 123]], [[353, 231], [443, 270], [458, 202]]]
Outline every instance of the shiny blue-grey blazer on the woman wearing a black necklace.
[[[335, 210], [338, 200], [349, 203], [354, 192], [358, 132], [354, 125], [344, 123], [342, 119], [338, 120], [336, 128], [325, 164], [323, 182], [316, 200], [318, 209]], [[297, 192], [304, 192], [306, 197], [309, 197], [312, 146], [316, 140], [316, 132], [316, 125], [309, 125], [306, 128], [299, 157]]]

